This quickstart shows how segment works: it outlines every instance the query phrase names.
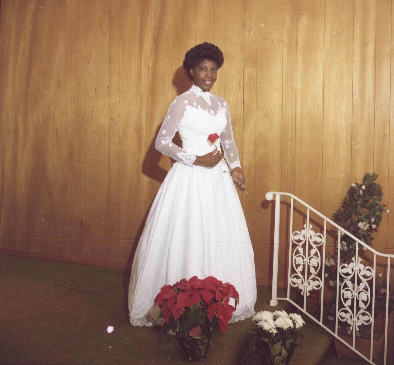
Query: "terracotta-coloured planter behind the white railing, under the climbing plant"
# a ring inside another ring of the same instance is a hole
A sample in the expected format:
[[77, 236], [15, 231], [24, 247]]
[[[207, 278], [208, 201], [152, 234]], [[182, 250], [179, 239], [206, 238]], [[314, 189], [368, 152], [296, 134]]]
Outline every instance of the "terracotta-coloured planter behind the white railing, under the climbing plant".
[[[340, 337], [350, 346], [353, 345], [353, 337], [350, 336], [340, 336]], [[361, 358], [361, 356], [353, 352], [353, 350], [351, 350], [348, 346], [343, 344], [338, 339], [334, 338], [334, 343], [335, 343], [336, 354], [341, 358], [364, 360], [363, 358]], [[372, 346], [373, 346], [372, 361], [376, 362], [379, 354], [382, 352], [383, 347], [385, 346], [385, 335], [383, 334], [379, 340], [375, 340]], [[371, 340], [359, 339], [356, 337], [355, 349], [361, 352], [361, 354], [366, 356], [368, 359], [370, 358], [370, 348], [371, 348]]]

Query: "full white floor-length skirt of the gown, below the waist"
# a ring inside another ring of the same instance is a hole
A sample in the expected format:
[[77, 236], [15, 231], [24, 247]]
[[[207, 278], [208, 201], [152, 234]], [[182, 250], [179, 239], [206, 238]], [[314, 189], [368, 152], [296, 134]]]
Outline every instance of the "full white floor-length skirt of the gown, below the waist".
[[[224, 172], [227, 171], [227, 172]], [[134, 256], [128, 308], [134, 326], [162, 324], [154, 298], [165, 284], [214, 276], [240, 296], [230, 322], [252, 316], [254, 255], [238, 193], [224, 161], [176, 162], [162, 183]]]

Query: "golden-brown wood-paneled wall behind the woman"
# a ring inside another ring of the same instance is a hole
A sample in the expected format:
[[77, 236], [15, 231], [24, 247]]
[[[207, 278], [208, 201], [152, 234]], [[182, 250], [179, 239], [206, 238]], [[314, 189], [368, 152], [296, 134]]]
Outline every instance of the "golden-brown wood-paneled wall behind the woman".
[[393, 253], [393, 19], [391, 0], [2, 0], [2, 252], [130, 268], [171, 167], [156, 133], [189, 87], [184, 53], [209, 41], [225, 54], [214, 93], [253, 197], [240, 195], [258, 283], [269, 190], [331, 217], [375, 171], [391, 212], [374, 247]]

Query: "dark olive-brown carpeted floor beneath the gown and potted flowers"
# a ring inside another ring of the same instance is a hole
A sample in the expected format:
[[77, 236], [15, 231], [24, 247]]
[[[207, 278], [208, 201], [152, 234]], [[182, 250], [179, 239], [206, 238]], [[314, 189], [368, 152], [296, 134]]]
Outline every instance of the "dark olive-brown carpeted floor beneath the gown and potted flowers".
[[[0, 255], [0, 364], [189, 363], [175, 336], [129, 324], [129, 279], [124, 270]], [[259, 286], [256, 311], [272, 310], [269, 298], [270, 288]], [[275, 309], [291, 308], [280, 301]], [[204, 363], [257, 365], [250, 326], [230, 324]], [[318, 326], [307, 323], [303, 333], [290, 365], [365, 364], [331, 354], [332, 338]]]

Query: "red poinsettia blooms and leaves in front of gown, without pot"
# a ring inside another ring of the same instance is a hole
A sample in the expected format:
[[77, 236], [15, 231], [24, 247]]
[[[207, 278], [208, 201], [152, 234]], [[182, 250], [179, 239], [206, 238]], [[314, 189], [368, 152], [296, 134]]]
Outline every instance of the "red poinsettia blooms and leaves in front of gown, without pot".
[[[235, 300], [234, 306], [229, 304], [230, 298]], [[171, 329], [181, 338], [205, 336], [211, 342], [219, 331], [227, 331], [237, 303], [239, 294], [234, 286], [213, 276], [193, 276], [164, 285], [154, 299], [164, 318], [164, 331]]]

